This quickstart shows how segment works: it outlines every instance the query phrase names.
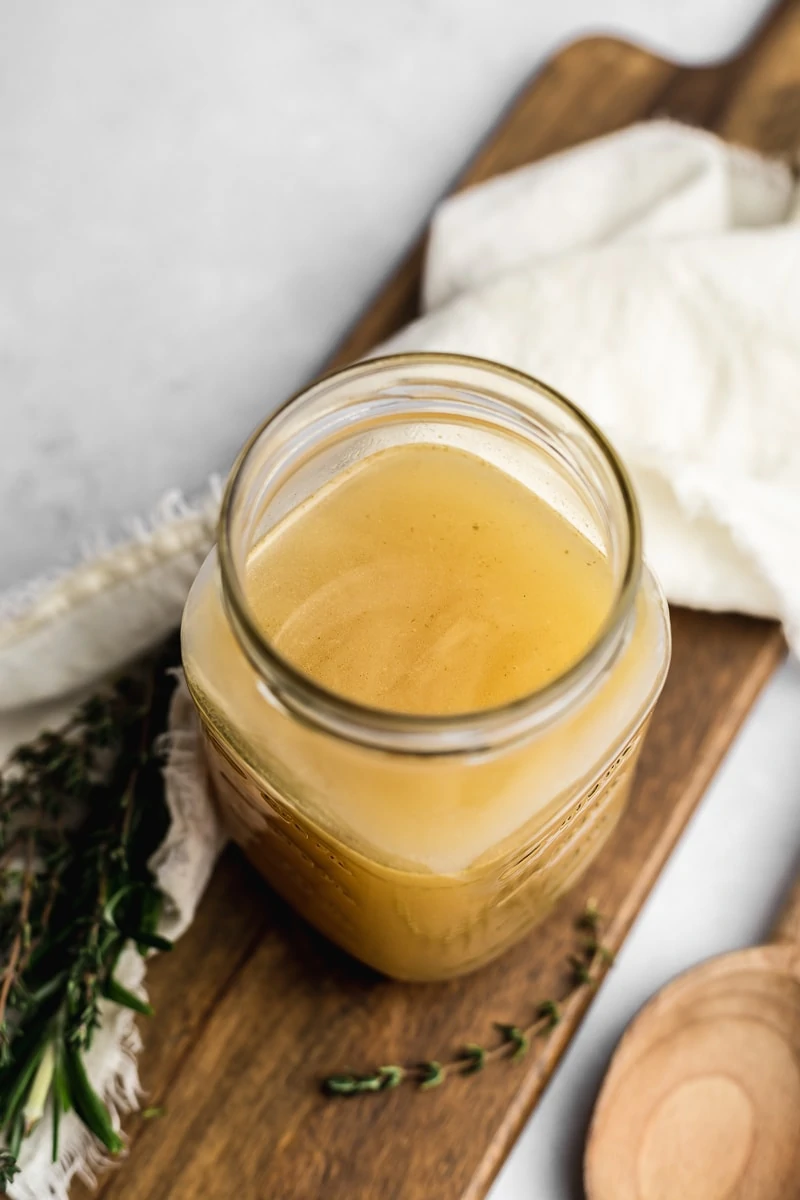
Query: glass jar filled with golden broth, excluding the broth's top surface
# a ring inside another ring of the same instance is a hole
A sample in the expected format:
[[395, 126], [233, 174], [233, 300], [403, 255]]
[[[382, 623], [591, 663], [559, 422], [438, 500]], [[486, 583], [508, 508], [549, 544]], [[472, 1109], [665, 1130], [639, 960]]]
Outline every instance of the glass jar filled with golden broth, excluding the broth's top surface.
[[[251, 550], [353, 463], [432, 443], [477, 455], [606, 556], [614, 601], [560, 678], [456, 716], [372, 709], [320, 686], [259, 631]], [[186, 604], [186, 679], [218, 803], [266, 880], [379, 971], [481, 966], [542, 919], [627, 799], [669, 661], [627, 474], [558, 392], [479, 359], [375, 359], [313, 384], [258, 430], [228, 482], [218, 550]]]

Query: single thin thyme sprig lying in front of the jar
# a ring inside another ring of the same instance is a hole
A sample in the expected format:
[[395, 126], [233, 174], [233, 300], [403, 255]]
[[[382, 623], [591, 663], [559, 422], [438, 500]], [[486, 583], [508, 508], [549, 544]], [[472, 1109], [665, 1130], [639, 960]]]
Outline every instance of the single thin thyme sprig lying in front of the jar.
[[401, 1084], [429, 1091], [440, 1087], [452, 1075], [474, 1075], [500, 1060], [519, 1062], [536, 1038], [547, 1036], [560, 1022], [565, 1004], [583, 990], [595, 988], [604, 968], [613, 962], [613, 954], [600, 940], [601, 917], [594, 900], [589, 901], [576, 925], [583, 936], [578, 953], [567, 959], [569, 988], [560, 1000], [539, 1003], [527, 1025], [495, 1024], [498, 1039], [493, 1045], [470, 1042], [449, 1060], [431, 1058], [402, 1066], [391, 1063], [365, 1074], [329, 1075], [323, 1080], [323, 1091], [335, 1097], [362, 1096], [389, 1092]]

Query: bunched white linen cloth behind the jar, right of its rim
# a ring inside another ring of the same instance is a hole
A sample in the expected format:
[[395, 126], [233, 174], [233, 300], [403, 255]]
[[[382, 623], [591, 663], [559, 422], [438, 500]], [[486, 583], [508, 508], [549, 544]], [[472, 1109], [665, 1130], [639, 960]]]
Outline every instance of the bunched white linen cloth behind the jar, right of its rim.
[[666, 121], [449, 200], [428, 312], [381, 349], [558, 388], [633, 475], [669, 600], [800, 647], [800, 215], [792, 172]]

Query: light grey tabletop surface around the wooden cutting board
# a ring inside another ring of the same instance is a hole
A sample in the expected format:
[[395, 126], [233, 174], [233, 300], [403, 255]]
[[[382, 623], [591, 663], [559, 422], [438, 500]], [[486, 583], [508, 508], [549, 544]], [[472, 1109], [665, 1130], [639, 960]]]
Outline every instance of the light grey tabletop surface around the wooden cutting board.
[[[615, 31], [702, 61], [764, 7], [4, 0], [0, 589], [224, 472], [555, 47]], [[691, 962], [764, 936], [800, 851], [798, 730], [788, 666], [492, 1200], [577, 1198], [591, 1102], [636, 1008]]]

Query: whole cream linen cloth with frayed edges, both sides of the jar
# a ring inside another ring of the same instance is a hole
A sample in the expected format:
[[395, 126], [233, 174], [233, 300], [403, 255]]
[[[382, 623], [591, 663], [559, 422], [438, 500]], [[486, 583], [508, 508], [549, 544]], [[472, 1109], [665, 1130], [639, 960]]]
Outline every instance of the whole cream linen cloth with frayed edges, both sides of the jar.
[[[645, 548], [670, 600], [777, 617], [800, 647], [800, 204], [790, 169], [664, 121], [633, 126], [447, 200], [432, 229], [420, 320], [380, 348], [452, 350], [564, 391], [632, 472]], [[0, 749], [67, 694], [180, 619], [212, 541], [218, 490], [170, 496], [149, 526], [60, 578], [0, 598]], [[197, 733], [178, 692], [168, 844], [154, 864], [192, 918], [221, 845]], [[144, 966], [131, 955], [128, 985]], [[157, 1018], [156, 1018], [157, 1020]], [[89, 1062], [116, 1114], [138, 1103], [138, 1034], [108, 1010]], [[49, 1121], [13, 1200], [62, 1198], [92, 1150]]]

